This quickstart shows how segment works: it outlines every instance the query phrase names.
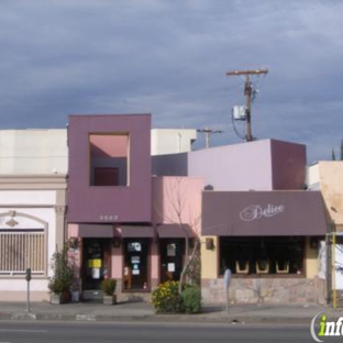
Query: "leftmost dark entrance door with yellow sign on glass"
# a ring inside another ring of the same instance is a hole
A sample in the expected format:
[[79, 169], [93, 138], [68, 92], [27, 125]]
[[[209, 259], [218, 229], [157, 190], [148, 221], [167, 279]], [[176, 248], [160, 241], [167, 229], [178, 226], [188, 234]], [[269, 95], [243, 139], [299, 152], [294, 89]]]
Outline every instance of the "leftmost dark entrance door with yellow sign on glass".
[[82, 254], [82, 288], [99, 290], [103, 275], [108, 273], [109, 240], [85, 239]]

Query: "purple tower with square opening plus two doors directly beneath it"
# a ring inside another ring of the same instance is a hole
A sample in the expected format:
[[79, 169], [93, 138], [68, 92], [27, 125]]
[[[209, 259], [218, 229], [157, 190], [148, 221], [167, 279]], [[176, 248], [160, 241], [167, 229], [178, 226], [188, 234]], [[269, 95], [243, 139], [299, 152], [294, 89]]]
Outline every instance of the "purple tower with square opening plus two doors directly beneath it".
[[85, 299], [106, 277], [119, 290], [150, 288], [150, 114], [69, 118], [68, 239]]

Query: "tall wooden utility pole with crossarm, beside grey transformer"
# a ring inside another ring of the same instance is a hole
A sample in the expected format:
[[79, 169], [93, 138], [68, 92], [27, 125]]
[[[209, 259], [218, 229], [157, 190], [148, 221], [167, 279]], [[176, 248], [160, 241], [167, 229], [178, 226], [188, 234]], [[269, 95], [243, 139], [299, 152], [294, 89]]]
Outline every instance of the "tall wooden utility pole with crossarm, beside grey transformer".
[[266, 75], [268, 69], [256, 69], [256, 70], [234, 70], [226, 73], [226, 76], [234, 75], [245, 75], [245, 85], [244, 85], [244, 96], [245, 96], [245, 106], [246, 106], [246, 141], [251, 142], [254, 140], [252, 134], [252, 95], [253, 86], [250, 79], [251, 75]]

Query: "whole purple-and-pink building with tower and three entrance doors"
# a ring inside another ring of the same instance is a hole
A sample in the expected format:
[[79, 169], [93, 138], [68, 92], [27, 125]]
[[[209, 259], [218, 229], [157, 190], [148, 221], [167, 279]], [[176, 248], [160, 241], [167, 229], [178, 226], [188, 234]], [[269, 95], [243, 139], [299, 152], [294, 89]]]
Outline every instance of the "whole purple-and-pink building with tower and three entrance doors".
[[200, 232], [189, 218], [203, 181], [152, 177], [150, 139], [150, 114], [69, 118], [68, 240], [84, 299], [101, 298], [108, 277], [119, 300], [150, 299], [179, 278], [185, 237]]

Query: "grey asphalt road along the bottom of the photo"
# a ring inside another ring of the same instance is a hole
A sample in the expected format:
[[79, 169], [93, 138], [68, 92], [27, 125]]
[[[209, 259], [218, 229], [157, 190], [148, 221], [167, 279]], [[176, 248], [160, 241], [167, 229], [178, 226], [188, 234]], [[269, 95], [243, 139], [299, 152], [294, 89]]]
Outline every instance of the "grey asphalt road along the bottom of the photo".
[[0, 343], [313, 342], [307, 325], [0, 322]]

